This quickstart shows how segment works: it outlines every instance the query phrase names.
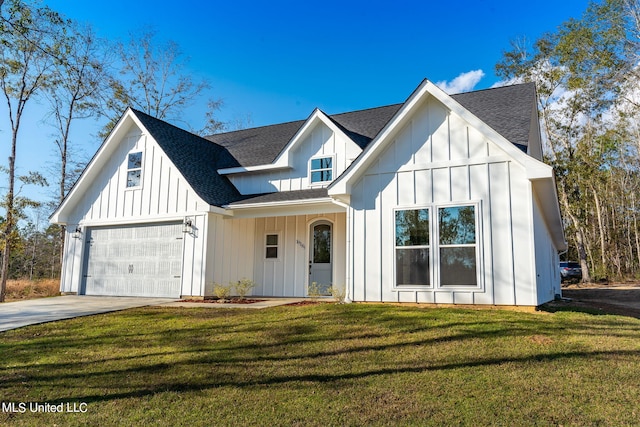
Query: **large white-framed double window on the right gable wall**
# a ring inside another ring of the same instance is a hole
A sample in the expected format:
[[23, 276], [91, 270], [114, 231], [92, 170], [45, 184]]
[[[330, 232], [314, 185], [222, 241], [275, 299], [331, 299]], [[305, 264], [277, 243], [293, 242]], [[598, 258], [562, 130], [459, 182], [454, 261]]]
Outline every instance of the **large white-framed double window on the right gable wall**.
[[437, 221], [430, 212], [395, 211], [396, 286], [430, 286], [432, 277], [439, 287], [477, 286], [476, 206], [434, 207]]

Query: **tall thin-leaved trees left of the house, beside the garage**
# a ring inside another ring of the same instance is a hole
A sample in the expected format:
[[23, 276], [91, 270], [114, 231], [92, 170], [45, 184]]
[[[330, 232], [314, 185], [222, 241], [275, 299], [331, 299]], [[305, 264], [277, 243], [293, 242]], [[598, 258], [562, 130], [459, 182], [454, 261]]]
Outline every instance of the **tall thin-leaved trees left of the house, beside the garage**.
[[[29, 231], [33, 223], [21, 225], [28, 212], [43, 205], [48, 205], [51, 212], [84, 168], [86, 160], [71, 139], [78, 121], [89, 117], [101, 120], [105, 125], [100, 139], [109, 134], [129, 106], [160, 119], [180, 121], [185, 107], [210, 92], [210, 84], [187, 73], [178, 45], [158, 42], [152, 31], [132, 35], [126, 42], [108, 42], [97, 37], [90, 26], [74, 22], [36, 0], [7, 0], [0, 2], [0, 90], [4, 100], [0, 111], [8, 123], [8, 129], [2, 131], [10, 135], [10, 155], [0, 166], [7, 183], [0, 201], [4, 209], [0, 217], [2, 302], [7, 279], [25, 274], [24, 268], [18, 267], [25, 263], [18, 259], [29, 258], [24, 251], [33, 246], [29, 244], [34, 236]], [[25, 112], [36, 103], [45, 105], [48, 111], [45, 119], [54, 133], [51, 139], [56, 166], [49, 174], [19, 174], [16, 164], [18, 147], [24, 143], [21, 131]], [[211, 134], [230, 126], [216, 117], [221, 106], [221, 100], [211, 98], [204, 126], [191, 130]], [[21, 191], [24, 186], [46, 186], [49, 182], [56, 188], [51, 200], [31, 200]], [[47, 239], [57, 233], [57, 242], [52, 244], [60, 258], [63, 227], [38, 233], [46, 234]], [[41, 237], [40, 245], [45, 242], [45, 236]], [[32, 251], [31, 258], [34, 254]], [[59, 271], [59, 259], [43, 256], [51, 260], [49, 270]]]

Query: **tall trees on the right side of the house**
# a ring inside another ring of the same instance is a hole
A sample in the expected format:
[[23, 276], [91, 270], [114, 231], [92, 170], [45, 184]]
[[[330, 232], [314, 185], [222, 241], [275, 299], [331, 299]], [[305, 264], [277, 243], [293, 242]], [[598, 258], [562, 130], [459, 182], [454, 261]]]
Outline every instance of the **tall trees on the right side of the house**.
[[640, 277], [640, 2], [591, 2], [496, 65], [538, 90], [569, 251], [583, 280]]

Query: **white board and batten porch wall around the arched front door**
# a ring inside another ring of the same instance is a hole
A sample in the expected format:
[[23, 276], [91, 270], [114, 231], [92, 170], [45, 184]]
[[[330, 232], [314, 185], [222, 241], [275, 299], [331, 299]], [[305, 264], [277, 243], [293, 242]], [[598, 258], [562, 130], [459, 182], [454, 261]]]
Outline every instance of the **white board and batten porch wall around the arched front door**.
[[[305, 297], [309, 280], [311, 227], [331, 223], [332, 281], [346, 285], [346, 214], [296, 215], [256, 218], [254, 240], [254, 295]], [[278, 234], [277, 259], [265, 258], [265, 236]]]

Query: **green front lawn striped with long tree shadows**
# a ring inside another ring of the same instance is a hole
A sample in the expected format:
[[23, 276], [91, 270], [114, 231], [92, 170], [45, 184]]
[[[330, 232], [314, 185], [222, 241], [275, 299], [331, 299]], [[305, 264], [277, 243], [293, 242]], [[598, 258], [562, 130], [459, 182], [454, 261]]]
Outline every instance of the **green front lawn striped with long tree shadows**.
[[640, 425], [640, 321], [319, 304], [0, 333], [0, 425]]

